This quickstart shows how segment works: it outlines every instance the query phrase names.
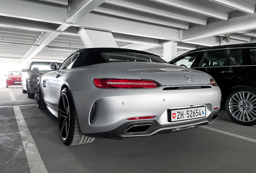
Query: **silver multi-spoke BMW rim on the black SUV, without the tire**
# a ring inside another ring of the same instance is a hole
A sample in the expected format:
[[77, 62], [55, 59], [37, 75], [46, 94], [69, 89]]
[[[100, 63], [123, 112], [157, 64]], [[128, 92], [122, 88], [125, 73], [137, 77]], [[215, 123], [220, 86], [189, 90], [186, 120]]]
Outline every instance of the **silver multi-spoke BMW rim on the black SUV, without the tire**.
[[256, 95], [248, 91], [239, 91], [229, 99], [229, 112], [241, 122], [256, 119]]

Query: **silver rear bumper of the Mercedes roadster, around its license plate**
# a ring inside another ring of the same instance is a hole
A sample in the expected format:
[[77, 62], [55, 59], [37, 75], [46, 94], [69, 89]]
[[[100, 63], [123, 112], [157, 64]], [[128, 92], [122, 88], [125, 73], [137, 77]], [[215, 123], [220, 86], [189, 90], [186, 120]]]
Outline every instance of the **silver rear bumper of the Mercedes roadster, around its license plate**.
[[[155, 133], [173, 131], [180, 126], [190, 124], [205, 125], [211, 123], [211, 116], [220, 107], [221, 91], [219, 87], [187, 90], [158, 89], [98, 89], [71, 91], [81, 132], [88, 136], [105, 135], [122, 139], [139, 137]], [[93, 105], [96, 105], [93, 111]], [[204, 106], [206, 117], [177, 122], [168, 122], [169, 109], [185, 109]], [[155, 116], [149, 120], [132, 120], [132, 117]], [[141, 134], [128, 135], [127, 128], [132, 125], [150, 124], [150, 128]], [[105, 135], [104, 135], [105, 134]]]

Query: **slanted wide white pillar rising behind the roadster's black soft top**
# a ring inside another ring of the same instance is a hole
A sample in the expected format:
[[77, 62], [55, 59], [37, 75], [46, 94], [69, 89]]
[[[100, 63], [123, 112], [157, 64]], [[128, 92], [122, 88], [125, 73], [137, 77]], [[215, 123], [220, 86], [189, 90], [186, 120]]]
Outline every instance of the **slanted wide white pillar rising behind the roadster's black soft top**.
[[85, 28], [78, 28], [76, 30], [81, 37], [86, 48], [97, 47], [111, 47], [118, 48], [116, 40], [111, 32], [104, 32], [99, 30], [89, 30]]

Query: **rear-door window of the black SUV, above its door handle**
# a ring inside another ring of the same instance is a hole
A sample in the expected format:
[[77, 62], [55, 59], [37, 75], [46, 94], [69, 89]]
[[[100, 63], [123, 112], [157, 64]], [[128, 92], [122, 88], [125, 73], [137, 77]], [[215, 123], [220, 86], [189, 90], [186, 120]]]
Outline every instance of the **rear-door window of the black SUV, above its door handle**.
[[198, 67], [224, 66], [232, 49], [204, 51]]

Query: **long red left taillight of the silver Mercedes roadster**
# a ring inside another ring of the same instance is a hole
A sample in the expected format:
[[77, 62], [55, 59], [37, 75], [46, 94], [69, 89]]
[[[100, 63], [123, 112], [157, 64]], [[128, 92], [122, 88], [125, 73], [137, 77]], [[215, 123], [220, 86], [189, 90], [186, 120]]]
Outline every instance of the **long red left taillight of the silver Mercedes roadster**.
[[106, 79], [95, 78], [93, 82], [96, 87], [109, 89], [138, 89], [138, 88], [157, 88], [160, 86], [152, 80], [136, 79]]

